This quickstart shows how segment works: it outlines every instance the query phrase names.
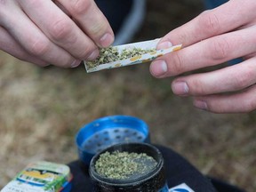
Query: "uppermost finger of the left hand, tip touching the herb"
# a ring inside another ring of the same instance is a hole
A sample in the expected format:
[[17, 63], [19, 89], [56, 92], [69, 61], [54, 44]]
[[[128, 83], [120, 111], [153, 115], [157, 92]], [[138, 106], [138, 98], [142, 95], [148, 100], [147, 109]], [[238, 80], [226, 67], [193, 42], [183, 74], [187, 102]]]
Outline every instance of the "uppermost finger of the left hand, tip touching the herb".
[[113, 30], [93, 0], [58, 0], [58, 2], [100, 47], [108, 47], [114, 42]]

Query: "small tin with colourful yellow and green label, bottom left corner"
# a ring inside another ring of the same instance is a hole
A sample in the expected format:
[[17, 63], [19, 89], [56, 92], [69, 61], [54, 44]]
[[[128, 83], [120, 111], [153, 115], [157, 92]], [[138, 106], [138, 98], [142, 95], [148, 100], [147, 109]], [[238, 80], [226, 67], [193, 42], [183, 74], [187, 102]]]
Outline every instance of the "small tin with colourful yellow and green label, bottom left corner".
[[41, 161], [29, 164], [1, 192], [58, 192], [71, 179], [67, 165]]

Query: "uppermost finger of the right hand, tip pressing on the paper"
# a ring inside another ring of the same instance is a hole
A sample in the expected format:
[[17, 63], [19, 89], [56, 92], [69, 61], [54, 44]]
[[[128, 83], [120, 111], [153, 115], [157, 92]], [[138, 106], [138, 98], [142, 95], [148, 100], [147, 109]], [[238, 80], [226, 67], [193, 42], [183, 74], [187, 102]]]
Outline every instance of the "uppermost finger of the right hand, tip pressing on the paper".
[[256, 1], [248, 1], [228, 1], [216, 9], [201, 13], [194, 20], [164, 36], [158, 47], [164, 48], [162, 46], [168, 42], [185, 47], [246, 25], [255, 18]]

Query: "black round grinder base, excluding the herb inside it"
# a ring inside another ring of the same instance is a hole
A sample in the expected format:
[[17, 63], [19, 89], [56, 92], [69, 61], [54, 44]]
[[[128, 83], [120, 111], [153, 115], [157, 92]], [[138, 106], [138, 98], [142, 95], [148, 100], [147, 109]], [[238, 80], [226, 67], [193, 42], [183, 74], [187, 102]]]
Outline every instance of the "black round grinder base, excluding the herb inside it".
[[[127, 180], [114, 180], [108, 179], [95, 170], [95, 163], [100, 158], [100, 155], [108, 151], [109, 153], [114, 151], [119, 152], [135, 152], [135, 153], [146, 153], [148, 156], [152, 156], [156, 160], [156, 167], [147, 174], [141, 174], [136, 179]], [[167, 192], [168, 187], [166, 184], [166, 178], [164, 174], [164, 158], [161, 152], [153, 145], [147, 143], [122, 143], [115, 146], [106, 148], [105, 150], [93, 156], [89, 174], [93, 183], [94, 192]]]

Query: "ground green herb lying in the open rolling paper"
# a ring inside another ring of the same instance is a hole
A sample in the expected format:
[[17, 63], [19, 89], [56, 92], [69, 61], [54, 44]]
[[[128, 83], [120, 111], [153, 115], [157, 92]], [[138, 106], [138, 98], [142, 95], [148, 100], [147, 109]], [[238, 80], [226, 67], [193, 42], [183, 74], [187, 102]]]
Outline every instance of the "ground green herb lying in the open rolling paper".
[[117, 61], [117, 60], [126, 60], [141, 54], [148, 52], [155, 52], [156, 49], [141, 49], [141, 48], [127, 48], [122, 52], [118, 52], [116, 47], [110, 46], [107, 48], [100, 48], [100, 55], [96, 60], [86, 61], [86, 66], [88, 68], [94, 68], [98, 65]]

